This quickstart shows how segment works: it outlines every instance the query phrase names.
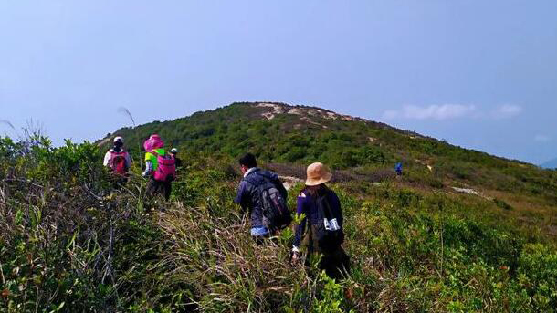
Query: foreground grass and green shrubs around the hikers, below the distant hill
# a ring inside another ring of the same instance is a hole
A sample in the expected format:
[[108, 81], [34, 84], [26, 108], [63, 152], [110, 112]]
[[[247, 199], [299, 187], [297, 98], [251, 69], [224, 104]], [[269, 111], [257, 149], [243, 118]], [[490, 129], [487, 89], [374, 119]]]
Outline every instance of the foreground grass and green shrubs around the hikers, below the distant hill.
[[186, 154], [164, 203], [144, 196], [138, 164], [114, 191], [90, 143], [1, 139], [0, 311], [557, 308], [557, 247], [496, 203], [390, 178], [335, 183], [352, 276], [334, 282], [289, 265], [291, 230], [257, 247], [231, 203], [233, 160], [202, 155]]

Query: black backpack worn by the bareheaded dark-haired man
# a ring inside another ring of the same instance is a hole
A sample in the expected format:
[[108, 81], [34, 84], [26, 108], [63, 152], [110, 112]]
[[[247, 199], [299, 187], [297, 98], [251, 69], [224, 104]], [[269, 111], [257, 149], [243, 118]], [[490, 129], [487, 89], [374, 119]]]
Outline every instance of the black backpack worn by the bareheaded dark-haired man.
[[249, 178], [244, 180], [252, 183], [257, 188], [257, 192], [261, 196], [263, 216], [269, 221], [268, 226], [280, 230], [288, 227], [292, 222], [292, 216], [286, 199], [278, 191], [277, 186], [268, 174], [257, 172], [254, 175], [262, 177], [264, 183], [254, 182]]

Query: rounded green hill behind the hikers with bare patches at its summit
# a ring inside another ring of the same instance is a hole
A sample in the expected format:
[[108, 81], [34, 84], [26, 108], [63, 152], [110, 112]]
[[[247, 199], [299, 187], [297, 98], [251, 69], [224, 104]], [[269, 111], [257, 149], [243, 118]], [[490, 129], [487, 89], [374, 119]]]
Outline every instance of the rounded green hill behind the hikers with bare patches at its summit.
[[[397, 184], [429, 192], [471, 190], [493, 210], [502, 208], [502, 218], [557, 238], [556, 171], [463, 149], [382, 123], [319, 108], [235, 103], [115, 132], [126, 138], [135, 153], [152, 133], [182, 148], [184, 154], [236, 158], [251, 151], [264, 162], [307, 165], [321, 161], [352, 172], [356, 181], [388, 179], [394, 163], [402, 161], [405, 176]], [[300, 171], [297, 176], [303, 175]]]

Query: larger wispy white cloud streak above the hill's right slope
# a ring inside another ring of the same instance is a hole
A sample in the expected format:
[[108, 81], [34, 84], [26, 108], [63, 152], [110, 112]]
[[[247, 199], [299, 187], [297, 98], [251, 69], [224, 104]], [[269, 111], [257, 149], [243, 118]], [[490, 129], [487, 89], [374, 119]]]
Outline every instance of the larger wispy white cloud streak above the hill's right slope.
[[443, 104], [419, 107], [405, 105], [402, 110], [387, 110], [383, 114], [385, 120], [396, 118], [410, 120], [448, 120], [471, 116], [476, 110], [475, 106], [462, 104]]

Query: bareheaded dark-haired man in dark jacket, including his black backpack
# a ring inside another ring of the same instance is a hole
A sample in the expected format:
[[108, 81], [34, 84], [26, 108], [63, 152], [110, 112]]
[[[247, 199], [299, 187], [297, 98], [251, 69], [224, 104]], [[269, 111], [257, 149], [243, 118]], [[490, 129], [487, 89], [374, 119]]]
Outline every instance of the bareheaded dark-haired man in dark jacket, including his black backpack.
[[238, 187], [235, 203], [249, 213], [251, 235], [261, 244], [279, 229], [287, 227], [292, 217], [287, 206], [288, 192], [274, 172], [257, 167], [256, 157], [247, 153], [239, 160], [244, 178]]

